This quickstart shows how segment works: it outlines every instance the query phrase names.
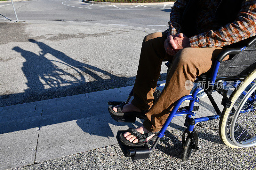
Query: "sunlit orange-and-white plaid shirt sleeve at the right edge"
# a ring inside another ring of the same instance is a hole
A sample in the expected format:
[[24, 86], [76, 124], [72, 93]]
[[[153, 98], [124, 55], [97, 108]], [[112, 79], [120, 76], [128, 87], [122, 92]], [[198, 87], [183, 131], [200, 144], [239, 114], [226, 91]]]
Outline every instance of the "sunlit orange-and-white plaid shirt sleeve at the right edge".
[[234, 22], [189, 38], [191, 47], [223, 47], [256, 35], [256, 1], [244, 0]]

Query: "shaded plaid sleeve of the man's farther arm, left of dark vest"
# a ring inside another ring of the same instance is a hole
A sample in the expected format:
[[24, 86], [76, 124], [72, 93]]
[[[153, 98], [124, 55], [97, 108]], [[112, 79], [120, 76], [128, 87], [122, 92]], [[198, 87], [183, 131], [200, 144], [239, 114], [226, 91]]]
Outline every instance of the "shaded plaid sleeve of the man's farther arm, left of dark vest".
[[175, 35], [180, 33], [181, 26], [181, 18], [183, 11], [185, 9], [186, 4], [188, 4], [188, 0], [177, 0], [172, 7], [172, 12], [170, 13], [170, 21], [168, 23], [169, 29], [167, 30], [167, 35]]

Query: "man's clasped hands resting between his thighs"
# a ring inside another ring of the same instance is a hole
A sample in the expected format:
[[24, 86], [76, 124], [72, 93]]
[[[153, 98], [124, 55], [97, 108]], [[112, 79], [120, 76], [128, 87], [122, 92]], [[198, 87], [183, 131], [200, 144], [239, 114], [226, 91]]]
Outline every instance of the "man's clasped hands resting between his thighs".
[[170, 35], [164, 41], [164, 49], [167, 54], [175, 55], [180, 49], [190, 47], [189, 38], [183, 33]]

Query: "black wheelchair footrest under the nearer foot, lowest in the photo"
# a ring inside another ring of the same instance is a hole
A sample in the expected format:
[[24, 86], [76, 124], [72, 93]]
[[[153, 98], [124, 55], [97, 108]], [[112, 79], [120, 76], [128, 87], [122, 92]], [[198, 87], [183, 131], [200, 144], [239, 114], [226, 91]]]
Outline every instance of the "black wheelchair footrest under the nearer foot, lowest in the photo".
[[124, 156], [131, 157], [132, 160], [147, 159], [150, 155], [150, 150], [148, 148], [148, 145], [145, 144], [144, 146], [135, 147], [135, 146], [127, 146], [127, 145], [123, 144], [119, 139], [119, 135], [124, 132], [126, 132], [126, 131], [118, 130], [117, 135], [116, 135], [117, 142], [118, 142], [122, 152], [124, 153]]

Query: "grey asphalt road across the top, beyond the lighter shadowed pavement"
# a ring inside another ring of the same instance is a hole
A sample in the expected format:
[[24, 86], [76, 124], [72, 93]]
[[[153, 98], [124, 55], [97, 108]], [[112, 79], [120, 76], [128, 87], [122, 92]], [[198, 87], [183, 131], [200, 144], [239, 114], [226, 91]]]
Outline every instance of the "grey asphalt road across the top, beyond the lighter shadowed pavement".
[[[81, 0], [32, 0], [15, 2], [20, 20], [62, 20], [118, 24], [166, 30], [172, 5], [114, 6]], [[16, 20], [11, 3], [0, 4], [0, 21]]]

